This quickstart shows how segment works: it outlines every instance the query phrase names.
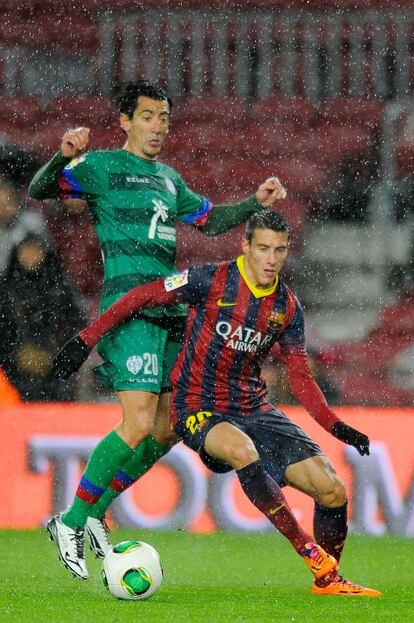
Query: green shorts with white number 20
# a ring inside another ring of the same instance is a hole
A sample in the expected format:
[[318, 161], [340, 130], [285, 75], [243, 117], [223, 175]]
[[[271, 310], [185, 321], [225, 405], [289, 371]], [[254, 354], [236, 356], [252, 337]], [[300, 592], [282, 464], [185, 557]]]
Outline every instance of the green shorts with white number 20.
[[105, 335], [98, 345], [104, 361], [94, 369], [101, 383], [115, 391], [170, 391], [185, 318], [169, 318], [168, 325], [160, 326], [157, 318], [134, 318]]

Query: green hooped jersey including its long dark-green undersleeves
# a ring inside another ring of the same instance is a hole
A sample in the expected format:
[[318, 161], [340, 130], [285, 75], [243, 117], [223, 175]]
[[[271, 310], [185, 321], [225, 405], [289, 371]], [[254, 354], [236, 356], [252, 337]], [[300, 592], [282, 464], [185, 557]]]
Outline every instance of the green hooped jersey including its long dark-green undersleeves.
[[[101, 310], [136, 285], [174, 272], [177, 221], [215, 235], [261, 209], [255, 197], [212, 209], [174, 169], [124, 149], [73, 160], [57, 154], [36, 174], [29, 193], [36, 199], [87, 201], [104, 262]], [[185, 313], [182, 306], [145, 311], [148, 316]]]

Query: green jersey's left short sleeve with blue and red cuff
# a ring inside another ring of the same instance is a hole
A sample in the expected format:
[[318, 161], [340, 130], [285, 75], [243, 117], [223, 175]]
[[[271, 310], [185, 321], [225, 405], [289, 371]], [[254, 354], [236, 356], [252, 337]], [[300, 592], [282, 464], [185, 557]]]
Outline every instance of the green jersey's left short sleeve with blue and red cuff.
[[102, 195], [102, 179], [88, 154], [71, 160], [58, 179], [59, 199], [84, 199], [93, 201]]

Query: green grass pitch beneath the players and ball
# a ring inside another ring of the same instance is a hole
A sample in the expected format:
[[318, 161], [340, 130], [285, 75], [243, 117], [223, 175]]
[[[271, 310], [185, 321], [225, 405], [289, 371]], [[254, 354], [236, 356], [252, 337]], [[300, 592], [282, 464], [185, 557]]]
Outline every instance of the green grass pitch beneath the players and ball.
[[1, 623], [272, 623], [414, 621], [414, 540], [350, 537], [341, 564], [349, 579], [381, 598], [310, 594], [311, 574], [278, 535], [185, 532], [111, 533], [140, 538], [161, 554], [165, 582], [146, 602], [118, 601], [104, 589], [100, 563], [73, 579], [44, 532], [0, 532]]

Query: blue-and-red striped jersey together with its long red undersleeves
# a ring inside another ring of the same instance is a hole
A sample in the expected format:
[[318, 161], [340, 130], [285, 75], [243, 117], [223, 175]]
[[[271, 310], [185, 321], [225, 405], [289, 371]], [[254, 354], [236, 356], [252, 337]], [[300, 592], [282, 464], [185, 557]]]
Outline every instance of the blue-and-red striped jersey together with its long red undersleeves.
[[275, 342], [297, 400], [327, 431], [340, 421], [309, 369], [299, 301], [280, 279], [267, 290], [255, 287], [245, 274], [243, 256], [137, 286], [79, 337], [92, 348], [131, 314], [179, 301], [187, 302], [190, 310], [183, 349], [171, 375], [173, 422], [181, 409], [241, 416], [258, 408], [270, 410], [260, 367]]

